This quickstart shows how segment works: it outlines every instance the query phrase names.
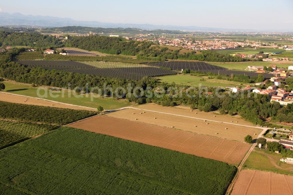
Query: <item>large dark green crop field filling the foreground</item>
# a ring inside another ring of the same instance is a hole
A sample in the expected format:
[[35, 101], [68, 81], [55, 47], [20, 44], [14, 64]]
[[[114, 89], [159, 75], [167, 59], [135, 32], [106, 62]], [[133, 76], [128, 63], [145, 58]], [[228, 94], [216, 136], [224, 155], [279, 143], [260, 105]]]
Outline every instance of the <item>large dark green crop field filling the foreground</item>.
[[224, 194], [236, 167], [79, 129], [0, 151], [0, 183], [31, 194]]

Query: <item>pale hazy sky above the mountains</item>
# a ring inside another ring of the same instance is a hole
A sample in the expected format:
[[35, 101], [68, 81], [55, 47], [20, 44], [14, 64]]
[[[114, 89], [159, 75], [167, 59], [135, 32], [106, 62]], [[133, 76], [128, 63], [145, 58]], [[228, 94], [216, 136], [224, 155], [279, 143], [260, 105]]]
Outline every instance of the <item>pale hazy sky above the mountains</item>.
[[1, 10], [110, 23], [293, 30], [292, 0], [7, 0]]

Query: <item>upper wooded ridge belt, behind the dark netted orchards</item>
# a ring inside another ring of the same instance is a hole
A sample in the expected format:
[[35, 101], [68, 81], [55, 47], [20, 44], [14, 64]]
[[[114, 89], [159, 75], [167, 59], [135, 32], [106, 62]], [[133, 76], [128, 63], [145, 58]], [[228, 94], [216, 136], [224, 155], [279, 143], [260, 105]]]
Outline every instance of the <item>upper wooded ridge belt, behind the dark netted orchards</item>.
[[220, 54], [211, 50], [202, 51], [201, 54], [196, 54], [195, 51], [180, 54], [180, 49], [170, 51], [166, 47], [151, 47], [154, 45], [153, 42], [126, 41], [120, 37], [93, 35], [87, 37], [70, 37], [68, 40], [62, 41], [54, 36], [41, 35], [38, 33], [9, 33], [0, 31], [0, 47], [4, 47], [5, 45], [30, 46], [39, 49], [63, 46], [76, 47], [88, 51], [98, 51], [107, 54], [123, 54], [136, 56], [138, 59], [154, 61], [182, 59], [214, 62], [239, 62], [247, 60], [238, 56]]

